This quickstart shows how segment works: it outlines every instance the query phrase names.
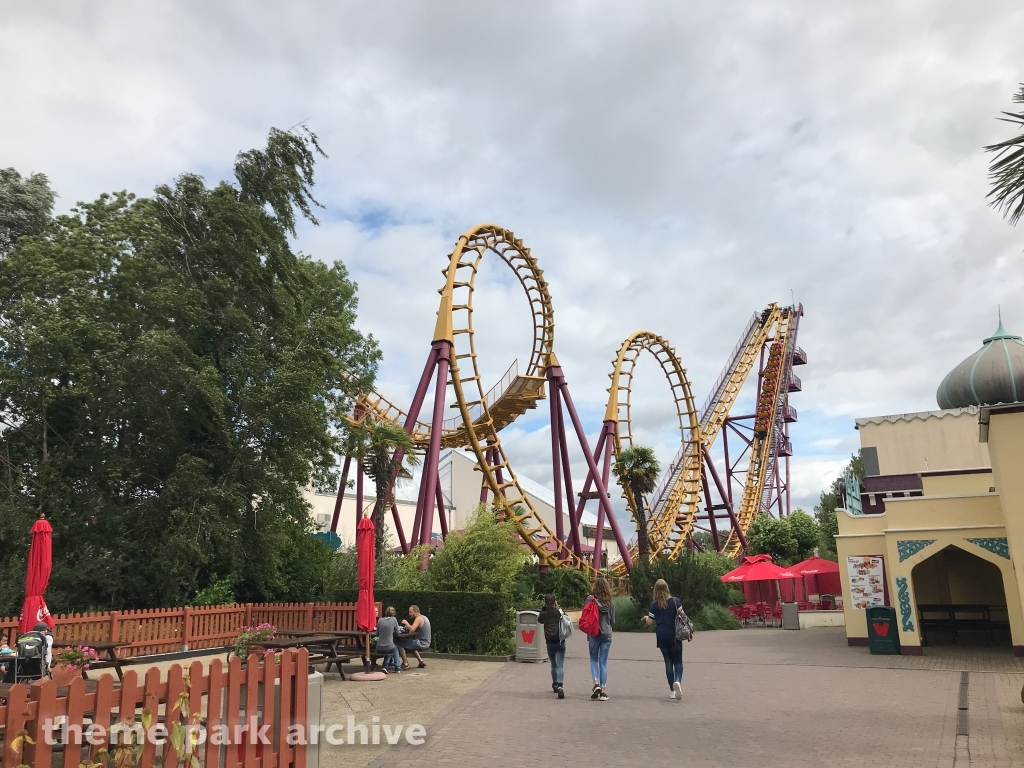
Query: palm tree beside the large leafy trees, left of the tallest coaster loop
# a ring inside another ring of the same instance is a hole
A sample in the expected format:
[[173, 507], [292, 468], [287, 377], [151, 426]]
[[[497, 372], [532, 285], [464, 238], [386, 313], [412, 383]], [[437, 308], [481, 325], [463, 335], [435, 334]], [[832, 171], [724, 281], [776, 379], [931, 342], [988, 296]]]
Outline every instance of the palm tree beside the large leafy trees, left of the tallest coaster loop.
[[[376, 556], [379, 560], [387, 544], [384, 532], [384, 510], [391, 502], [391, 499], [388, 498], [391, 475], [397, 469], [399, 478], [412, 477], [408, 466], [420, 463], [419, 458], [413, 453], [416, 443], [399, 424], [368, 416], [357, 426], [349, 430], [345, 439], [345, 447], [348, 456], [361, 462], [362, 470], [374, 481], [376, 502], [373, 521], [377, 529]], [[404, 456], [400, 463], [395, 464], [394, 456], [399, 450]]]

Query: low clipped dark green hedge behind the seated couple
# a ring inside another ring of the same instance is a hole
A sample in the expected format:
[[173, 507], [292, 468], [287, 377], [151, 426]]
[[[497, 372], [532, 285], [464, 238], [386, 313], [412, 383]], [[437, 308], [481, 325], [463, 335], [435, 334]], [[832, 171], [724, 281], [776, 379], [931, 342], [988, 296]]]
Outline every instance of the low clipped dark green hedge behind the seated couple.
[[[337, 599], [355, 602], [358, 592], [343, 591]], [[393, 605], [400, 622], [409, 606], [419, 605], [430, 620], [431, 650], [441, 653], [515, 652], [515, 609], [507, 595], [495, 592], [406, 592], [377, 590], [374, 599]]]

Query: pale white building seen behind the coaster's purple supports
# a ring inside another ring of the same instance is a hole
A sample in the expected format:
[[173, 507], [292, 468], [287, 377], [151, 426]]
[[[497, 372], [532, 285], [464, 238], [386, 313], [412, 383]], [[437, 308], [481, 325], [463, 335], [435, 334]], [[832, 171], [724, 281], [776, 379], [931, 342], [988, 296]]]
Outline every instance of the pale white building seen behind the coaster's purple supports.
[[[460, 530], [465, 527], [466, 520], [473, 511], [480, 505], [480, 488], [482, 475], [476, 471], [476, 458], [465, 451], [450, 450], [440, 456], [438, 474], [440, 476], [441, 494], [444, 497], [444, 507], [449, 530]], [[354, 475], [354, 465], [350, 470], [350, 475]], [[516, 474], [520, 486], [526, 493], [526, 498], [537, 510], [541, 519], [548, 527], [555, 531], [555, 498], [554, 494], [528, 477]], [[351, 479], [351, 477], [350, 477]], [[582, 484], [582, 483], [581, 483]], [[617, 486], [616, 486], [617, 487]], [[419, 478], [415, 481], [399, 483], [395, 506], [398, 509], [398, 516], [401, 520], [402, 528], [407, 538], [412, 534], [413, 522], [416, 517], [416, 494], [419, 489]], [[373, 509], [374, 505], [374, 484], [373, 481], [364, 478], [364, 508]], [[489, 500], [489, 492], [487, 494]], [[331, 526], [331, 518], [334, 514], [334, 506], [337, 499], [335, 492], [322, 492], [312, 488], [305, 490], [305, 499], [309, 502], [312, 510], [313, 522], [319, 530], [328, 530]], [[589, 506], [594, 507], [597, 502], [590, 502]], [[392, 547], [398, 546], [398, 536], [395, 529], [393, 516], [390, 510], [386, 515], [388, 534]], [[569, 531], [569, 517], [566, 512], [562, 512], [562, 524], [566, 535]], [[342, 501], [341, 512], [338, 518], [337, 534], [341, 538], [342, 546], [352, 546], [355, 543], [355, 522], [356, 522], [356, 501], [354, 487], [345, 492]], [[597, 515], [591, 510], [584, 510], [583, 530], [581, 544], [584, 552], [593, 557], [594, 539], [597, 528]], [[434, 524], [432, 537], [439, 543], [441, 529], [437, 514], [434, 514]], [[611, 529], [605, 526], [601, 543], [602, 563], [607, 565], [618, 559], [618, 547], [611, 535]]]

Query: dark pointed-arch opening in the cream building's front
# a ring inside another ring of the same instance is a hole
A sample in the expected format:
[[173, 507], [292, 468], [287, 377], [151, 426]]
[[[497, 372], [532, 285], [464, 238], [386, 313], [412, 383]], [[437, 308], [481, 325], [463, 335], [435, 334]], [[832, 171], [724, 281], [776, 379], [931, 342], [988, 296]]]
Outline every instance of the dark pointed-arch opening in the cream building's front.
[[998, 566], [950, 545], [910, 571], [922, 645], [1010, 647], [1007, 593]]

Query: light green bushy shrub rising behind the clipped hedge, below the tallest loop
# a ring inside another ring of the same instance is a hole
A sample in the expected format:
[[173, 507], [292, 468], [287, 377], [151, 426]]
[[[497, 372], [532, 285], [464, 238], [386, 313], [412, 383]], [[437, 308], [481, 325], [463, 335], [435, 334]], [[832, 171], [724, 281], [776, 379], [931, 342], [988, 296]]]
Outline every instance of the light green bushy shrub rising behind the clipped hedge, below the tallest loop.
[[426, 586], [451, 592], [512, 591], [529, 552], [518, 542], [515, 523], [481, 504], [466, 527], [449, 534], [430, 558]]

